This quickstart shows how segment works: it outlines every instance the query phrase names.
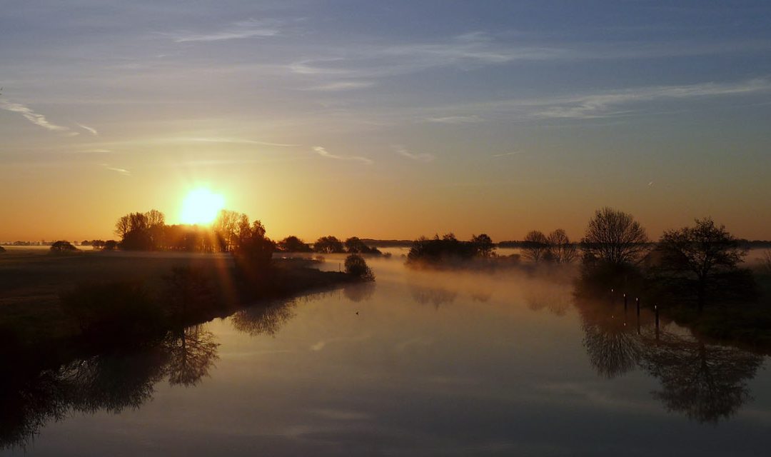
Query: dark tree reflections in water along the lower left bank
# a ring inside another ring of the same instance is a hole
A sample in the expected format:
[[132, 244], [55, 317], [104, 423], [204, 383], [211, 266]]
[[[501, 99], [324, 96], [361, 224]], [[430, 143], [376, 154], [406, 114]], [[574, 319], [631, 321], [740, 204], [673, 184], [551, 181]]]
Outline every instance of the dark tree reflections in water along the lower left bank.
[[218, 346], [214, 334], [196, 325], [139, 350], [113, 350], [56, 368], [10, 358], [4, 365], [17, 369], [0, 378], [0, 449], [24, 449], [40, 428], [68, 412], [139, 408], [163, 378], [170, 385], [196, 385], [217, 360]]

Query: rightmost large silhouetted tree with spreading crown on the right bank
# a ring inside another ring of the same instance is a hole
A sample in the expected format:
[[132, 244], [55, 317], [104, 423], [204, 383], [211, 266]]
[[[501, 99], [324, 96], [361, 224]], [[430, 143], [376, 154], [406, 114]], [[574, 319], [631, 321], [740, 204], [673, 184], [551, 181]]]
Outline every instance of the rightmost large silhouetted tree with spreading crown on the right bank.
[[747, 251], [725, 226], [715, 226], [709, 217], [696, 219], [693, 227], [665, 231], [655, 253], [655, 274], [694, 284], [699, 311], [710, 289], [726, 287], [730, 284], [721, 283], [742, 281], [742, 276], [747, 276], [737, 267]]

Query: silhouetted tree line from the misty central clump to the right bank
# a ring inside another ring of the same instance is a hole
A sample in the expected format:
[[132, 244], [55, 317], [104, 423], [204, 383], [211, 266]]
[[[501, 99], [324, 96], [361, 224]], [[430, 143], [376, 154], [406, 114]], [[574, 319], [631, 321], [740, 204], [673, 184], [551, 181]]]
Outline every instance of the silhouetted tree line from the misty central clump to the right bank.
[[[519, 247], [522, 257], [532, 263], [571, 264], [581, 260], [584, 276], [608, 281], [619, 275], [625, 281], [638, 277], [645, 287], [695, 296], [699, 310], [708, 297], [728, 292], [747, 297], [754, 289], [750, 271], [739, 267], [747, 254], [746, 247], [709, 217], [696, 219], [689, 227], [666, 230], [654, 242], [631, 214], [604, 207], [594, 213], [577, 243], [571, 242], [562, 229], [548, 235], [532, 230]], [[486, 234], [469, 241], [457, 240], [453, 234], [420, 237], [412, 243], [407, 264], [512, 260], [512, 256], [497, 257], [493, 249], [493, 241]]]

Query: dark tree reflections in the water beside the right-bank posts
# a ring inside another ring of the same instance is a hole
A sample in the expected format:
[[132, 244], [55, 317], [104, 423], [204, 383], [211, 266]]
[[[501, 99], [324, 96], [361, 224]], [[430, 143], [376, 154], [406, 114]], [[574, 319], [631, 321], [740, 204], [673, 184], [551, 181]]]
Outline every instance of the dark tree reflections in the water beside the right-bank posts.
[[638, 318], [633, 306], [607, 300], [575, 301], [584, 329], [584, 346], [598, 375], [615, 378], [641, 368], [658, 379], [652, 392], [670, 412], [697, 422], [716, 423], [739, 412], [752, 399], [747, 382], [763, 356], [731, 346], [708, 344], [689, 331], [656, 329], [648, 310]]

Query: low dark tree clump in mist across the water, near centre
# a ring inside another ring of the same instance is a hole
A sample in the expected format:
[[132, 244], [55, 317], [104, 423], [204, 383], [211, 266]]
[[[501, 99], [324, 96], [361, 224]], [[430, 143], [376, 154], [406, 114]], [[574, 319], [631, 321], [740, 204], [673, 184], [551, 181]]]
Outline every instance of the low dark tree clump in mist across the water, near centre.
[[495, 244], [487, 234], [473, 235], [469, 241], [461, 241], [455, 234], [420, 237], [412, 243], [407, 254], [408, 264], [442, 264], [453, 261], [489, 258], [495, 254]]

